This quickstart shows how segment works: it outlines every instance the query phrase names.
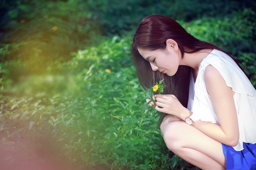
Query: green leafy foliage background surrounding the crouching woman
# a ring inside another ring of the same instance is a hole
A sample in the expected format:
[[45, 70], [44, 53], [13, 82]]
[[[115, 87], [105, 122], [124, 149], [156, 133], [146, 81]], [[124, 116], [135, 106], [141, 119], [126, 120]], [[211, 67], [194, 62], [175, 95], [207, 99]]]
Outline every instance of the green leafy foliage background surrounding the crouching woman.
[[0, 0], [1, 169], [198, 169], [168, 151], [141, 107], [130, 53], [166, 15], [241, 61], [256, 87], [250, 0]]

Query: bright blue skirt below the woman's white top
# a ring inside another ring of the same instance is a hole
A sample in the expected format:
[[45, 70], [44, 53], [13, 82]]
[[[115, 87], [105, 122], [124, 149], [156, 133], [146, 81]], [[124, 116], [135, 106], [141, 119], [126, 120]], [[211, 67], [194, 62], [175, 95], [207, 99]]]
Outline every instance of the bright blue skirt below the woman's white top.
[[222, 144], [227, 170], [256, 170], [256, 144], [243, 143], [243, 147], [244, 150], [236, 151], [232, 146]]

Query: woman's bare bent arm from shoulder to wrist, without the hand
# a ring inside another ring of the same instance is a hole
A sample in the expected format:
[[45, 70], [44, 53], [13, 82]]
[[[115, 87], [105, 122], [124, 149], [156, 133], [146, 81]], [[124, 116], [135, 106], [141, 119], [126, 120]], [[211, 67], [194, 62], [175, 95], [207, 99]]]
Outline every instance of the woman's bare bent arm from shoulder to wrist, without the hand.
[[[233, 91], [226, 85], [219, 71], [212, 65], [205, 68], [204, 80], [220, 125], [199, 120], [192, 125], [223, 144], [236, 146], [239, 141], [239, 129]], [[185, 120], [185, 117], [190, 115], [192, 115], [192, 112], [185, 109], [179, 117]]]

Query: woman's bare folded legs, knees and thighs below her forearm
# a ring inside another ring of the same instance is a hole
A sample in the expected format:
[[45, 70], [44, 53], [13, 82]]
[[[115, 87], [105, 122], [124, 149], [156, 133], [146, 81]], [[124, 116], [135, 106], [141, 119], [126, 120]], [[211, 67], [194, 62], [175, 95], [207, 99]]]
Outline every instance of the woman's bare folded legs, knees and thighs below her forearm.
[[160, 128], [165, 144], [180, 158], [201, 169], [225, 169], [220, 142], [171, 115], [165, 117]]

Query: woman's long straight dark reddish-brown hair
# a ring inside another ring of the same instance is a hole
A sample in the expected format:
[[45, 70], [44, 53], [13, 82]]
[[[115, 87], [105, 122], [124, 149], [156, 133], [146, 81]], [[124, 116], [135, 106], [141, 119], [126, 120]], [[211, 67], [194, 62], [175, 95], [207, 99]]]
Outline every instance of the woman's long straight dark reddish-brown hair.
[[[168, 76], [159, 71], [153, 71], [150, 63], [138, 51], [138, 48], [152, 51], [157, 49], [164, 50], [166, 49], [167, 39], [173, 39], [177, 42], [182, 59], [184, 53], [196, 53], [203, 49], [217, 49], [226, 54], [228, 53], [212, 43], [196, 39], [172, 18], [162, 15], [150, 15], [140, 22], [132, 40], [131, 53], [142, 88], [146, 90], [153, 86], [156, 81], [164, 79], [163, 83], [167, 87], [164, 89], [163, 94], [175, 95], [180, 103], [187, 107], [191, 67], [179, 66], [176, 74]], [[242, 69], [239, 62], [234, 58], [232, 59]], [[161, 124], [166, 115], [166, 113], [162, 113], [158, 125]]]

